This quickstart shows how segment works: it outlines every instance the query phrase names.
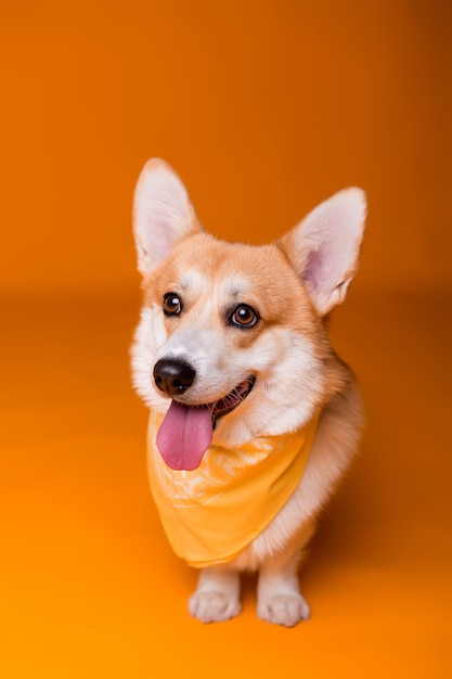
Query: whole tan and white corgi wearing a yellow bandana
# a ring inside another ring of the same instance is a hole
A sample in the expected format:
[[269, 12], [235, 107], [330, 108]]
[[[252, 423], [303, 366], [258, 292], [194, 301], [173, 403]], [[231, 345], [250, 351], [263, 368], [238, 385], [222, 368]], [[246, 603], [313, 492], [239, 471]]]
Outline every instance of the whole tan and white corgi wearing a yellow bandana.
[[151, 409], [152, 492], [176, 553], [199, 569], [189, 610], [203, 623], [241, 612], [244, 571], [258, 572], [260, 618], [309, 618], [299, 560], [362, 431], [326, 320], [357, 272], [365, 217], [349, 188], [272, 244], [229, 243], [204, 230], [164, 161], [140, 175], [133, 382]]

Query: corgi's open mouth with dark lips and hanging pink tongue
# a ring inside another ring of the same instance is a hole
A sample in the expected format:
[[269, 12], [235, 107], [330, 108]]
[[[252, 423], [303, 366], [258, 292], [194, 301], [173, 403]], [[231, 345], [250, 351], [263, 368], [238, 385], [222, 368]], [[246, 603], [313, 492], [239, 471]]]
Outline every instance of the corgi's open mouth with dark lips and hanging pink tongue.
[[250, 375], [219, 400], [189, 406], [173, 399], [157, 432], [157, 448], [166, 464], [177, 471], [193, 471], [211, 444], [219, 418], [232, 412], [251, 392], [256, 377]]

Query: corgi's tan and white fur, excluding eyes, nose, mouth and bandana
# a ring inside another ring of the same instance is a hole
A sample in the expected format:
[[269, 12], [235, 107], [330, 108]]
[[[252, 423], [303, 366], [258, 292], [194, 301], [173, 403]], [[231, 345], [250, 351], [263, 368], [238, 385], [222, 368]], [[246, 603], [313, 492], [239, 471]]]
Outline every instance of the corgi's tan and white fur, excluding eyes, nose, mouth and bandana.
[[[330, 210], [332, 219], [337, 209], [343, 222], [347, 222], [349, 209], [350, 220], [357, 221], [351, 231], [354, 229], [357, 235], [350, 236], [350, 245], [337, 261], [327, 253], [333, 261], [326, 274], [320, 265], [306, 273], [322, 247], [318, 242], [312, 244], [318, 238], [315, 216], [308, 217], [313, 226], [309, 222], [305, 241], [302, 222], [276, 244], [257, 247], [225, 243], [204, 232], [178, 182], [168, 166], [153, 161], [143, 170], [135, 194], [134, 229], [144, 291], [142, 320], [132, 349], [137, 389], [151, 407], [167, 409], [168, 399], [152, 380], [153, 364], [163, 356], [190, 357], [196, 367], [199, 377], [181, 398], [188, 405], [221, 399], [248, 374], [255, 374], [249, 396], [218, 422], [214, 443], [225, 446], [294, 431], [322, 411], [297, 490], [238, 556], [202, 572], [190, 611], [203, 622], [237, 615], [238, 573], [259, 571], [258, 615], [292, 626], [309, 616], [296, 575], [300, 553], [313, 533], [317, 515], [357, 450], [362, 427], [354, 376], [331, 347], [325, 318], [343, 299], [358, 266], [363, 227], [358, 221], [362, 213], [363, 222], [365, 214], [359, 202], [363, 197], [359, 190], [349, 190], [354, 193], [337, 194], [330, 200], [332, 207], [325, 203], [318, 208]], [[160, 187], [165, 201], [155, 207], [154, 196]], [[182, 206], [176, 218], [167, 207], [175, 191], [176, 202]], [[146, 192], [153, 196], [148, 203]], [[323, 222], [319, 223], [321, 239]], [[162, 254], [152, 249], [152, 234], [160, 238], [158, 229], [169, 233], [168, 243], [162, 239], [158, 245]], [[325, 247], [327, 251], [327, 243]], [[166, 317], [162, 311], [168, 292], [183, 299], [179, 317]], [[229, 310], [237, 303], [258, 311], [259, 322], [254, 328], [237, 329], [228, 321]]]

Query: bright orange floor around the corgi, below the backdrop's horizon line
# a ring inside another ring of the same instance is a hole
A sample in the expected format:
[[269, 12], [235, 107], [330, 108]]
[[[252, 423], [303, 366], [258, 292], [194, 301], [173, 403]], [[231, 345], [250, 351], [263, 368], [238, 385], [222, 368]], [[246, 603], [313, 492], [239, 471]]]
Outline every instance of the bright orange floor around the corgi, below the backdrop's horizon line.
[[[367, 408], [301, 572], [312, 618], [191, 619], [147, 487], [137, 298], [2, 300], [2, 679], [452, 676], [451, 299], [352, 291], [333, 336]], [[5, 386], [8, 385], [8, 387]]]

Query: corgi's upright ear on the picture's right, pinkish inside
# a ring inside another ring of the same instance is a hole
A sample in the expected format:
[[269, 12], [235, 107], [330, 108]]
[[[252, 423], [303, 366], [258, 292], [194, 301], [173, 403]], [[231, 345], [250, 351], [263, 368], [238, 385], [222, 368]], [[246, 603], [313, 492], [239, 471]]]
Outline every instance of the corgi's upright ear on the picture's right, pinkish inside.
[[322, 316], [344, 302], [358, 270], [365, 216], [364, 191], [344, 189], [277, 242]]

